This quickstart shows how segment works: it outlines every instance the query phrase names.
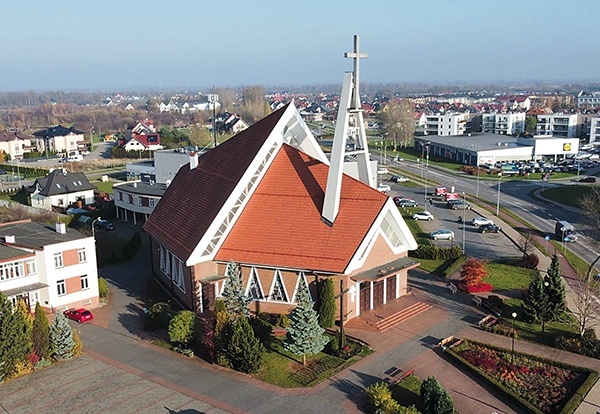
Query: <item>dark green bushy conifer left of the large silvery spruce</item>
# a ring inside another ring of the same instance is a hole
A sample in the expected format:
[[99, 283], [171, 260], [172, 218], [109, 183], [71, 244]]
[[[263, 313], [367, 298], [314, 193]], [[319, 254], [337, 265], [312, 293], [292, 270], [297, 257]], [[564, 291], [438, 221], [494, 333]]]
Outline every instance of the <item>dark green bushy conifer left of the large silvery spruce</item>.
[[240, 372], [256, 372], [260, 369], [264, 347], [254, 335], [248, 318], [237, 318], [232, 322], [231, 338], [227, 343], [227, 361]]

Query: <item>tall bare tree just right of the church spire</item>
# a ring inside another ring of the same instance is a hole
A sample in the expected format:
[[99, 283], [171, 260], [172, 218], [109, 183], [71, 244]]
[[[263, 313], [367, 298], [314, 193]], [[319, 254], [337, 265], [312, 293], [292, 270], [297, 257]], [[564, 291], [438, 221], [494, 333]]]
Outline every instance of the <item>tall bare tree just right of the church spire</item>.
[[390, 101], [380, 115], [381, 130], [388, 139], [394, 142], [394, 149], [408, 147], [413, 144], [415, 124], [413, 107], [410, 101]]

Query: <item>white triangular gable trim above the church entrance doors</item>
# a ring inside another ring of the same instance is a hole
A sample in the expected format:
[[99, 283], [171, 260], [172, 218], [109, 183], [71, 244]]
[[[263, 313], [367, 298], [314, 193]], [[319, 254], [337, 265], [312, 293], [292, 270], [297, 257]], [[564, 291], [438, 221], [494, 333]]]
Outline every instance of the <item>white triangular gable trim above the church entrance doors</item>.
[[356, 253], [350, 260], [344, 274], [349, 274], [364, 265], [378, 235], [383, 237], [394, 254], [415, 250], [418, 247], [417, 241], [398, 211], [398, 207], [396, 207], [392, 198], [388, 197], [367, 235], [356, 249]]

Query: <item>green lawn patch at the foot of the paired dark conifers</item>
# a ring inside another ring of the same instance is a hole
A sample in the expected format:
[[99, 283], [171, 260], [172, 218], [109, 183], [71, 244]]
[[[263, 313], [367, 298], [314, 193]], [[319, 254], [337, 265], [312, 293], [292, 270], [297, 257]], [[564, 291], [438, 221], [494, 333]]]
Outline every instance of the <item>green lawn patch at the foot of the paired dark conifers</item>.
[[504, 299], [502, 309], [505, 323], [510, 324], [512, 322], [511, 315], [513, 312], [517, 314], [515, 329], [519, 338], [552, 346], [556, 337], [579, 332], [577, 321], [571, 313], [565, 315], [564, 322], [547, 322], [544, 326], [544, 332], [542, 332], [541, 324], [530, 324], [523, 320], [522, 303], [521, 299]]

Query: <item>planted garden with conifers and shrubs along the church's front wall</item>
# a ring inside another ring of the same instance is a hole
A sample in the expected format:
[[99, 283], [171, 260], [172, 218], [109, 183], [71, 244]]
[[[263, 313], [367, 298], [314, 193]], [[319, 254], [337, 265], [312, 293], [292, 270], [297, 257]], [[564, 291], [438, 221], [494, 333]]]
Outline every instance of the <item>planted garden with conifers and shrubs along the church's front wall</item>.
[[145, 329], [166, 329], [155, 344], [190, 357], [244, 372], [284, 388], [310, 387], [372, 351], [368, 345], [332, 331], [336, 306], [333, 281], [319, 287], [318, 310], [308, 286], [299, 288], [289, 314], [250, 314], [239, 266], [230, 262], [222, 298], [213, 313], [199, 317], [168, 302], [148, 303]]

